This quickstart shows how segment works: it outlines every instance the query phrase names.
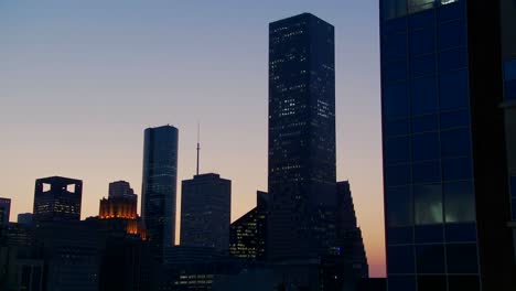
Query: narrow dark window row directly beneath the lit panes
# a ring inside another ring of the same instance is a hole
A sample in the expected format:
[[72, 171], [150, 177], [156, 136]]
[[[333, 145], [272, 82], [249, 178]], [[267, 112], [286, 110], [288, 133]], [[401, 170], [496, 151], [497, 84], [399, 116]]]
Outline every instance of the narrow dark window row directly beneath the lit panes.
[[475, 242], [475, 223], [396, 226], [387, 228], [387, 245]]

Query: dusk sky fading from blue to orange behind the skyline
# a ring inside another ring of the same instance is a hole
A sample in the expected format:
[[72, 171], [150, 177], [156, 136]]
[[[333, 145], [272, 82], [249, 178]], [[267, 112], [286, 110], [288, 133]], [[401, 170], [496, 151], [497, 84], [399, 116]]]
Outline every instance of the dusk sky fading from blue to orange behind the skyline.
[[[268, 23], [335, 26], [337, 177], [350, 180], [370, 272], [385, 276], [377, 1], [0, 0], [0, 196], [32, 212], [34, 181], [84, 181], [82, 217], [108, 183], [141, 193], [143, 130], [180, 130], [179, 181], [233, 181], [232, 220], [267, 191]], [[181, 205], [178, 194], [178, 205]], [[180, 212], [180, 209], [178, 209]]]

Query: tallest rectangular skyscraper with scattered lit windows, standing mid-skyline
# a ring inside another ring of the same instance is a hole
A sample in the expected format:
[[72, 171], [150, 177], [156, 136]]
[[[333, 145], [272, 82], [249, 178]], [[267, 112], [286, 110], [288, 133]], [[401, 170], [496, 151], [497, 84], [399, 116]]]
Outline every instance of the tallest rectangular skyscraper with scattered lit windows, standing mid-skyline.
[[268, 255], [316, 257], [334, 237], [334, 28], [303, 13], [269, 24]]

